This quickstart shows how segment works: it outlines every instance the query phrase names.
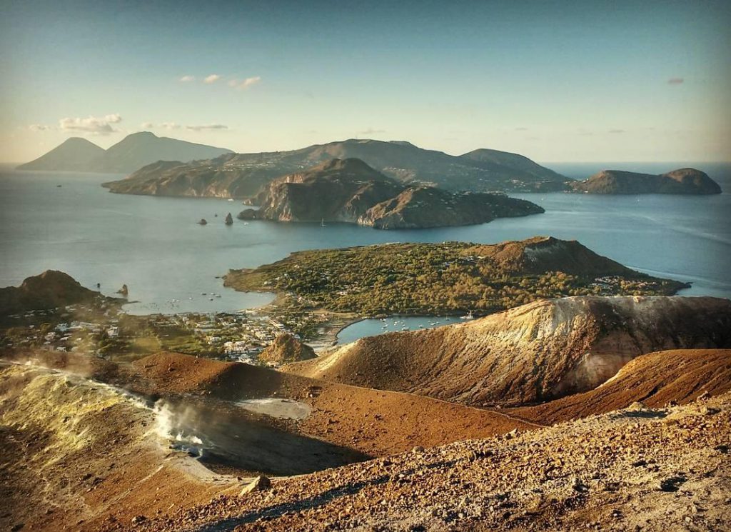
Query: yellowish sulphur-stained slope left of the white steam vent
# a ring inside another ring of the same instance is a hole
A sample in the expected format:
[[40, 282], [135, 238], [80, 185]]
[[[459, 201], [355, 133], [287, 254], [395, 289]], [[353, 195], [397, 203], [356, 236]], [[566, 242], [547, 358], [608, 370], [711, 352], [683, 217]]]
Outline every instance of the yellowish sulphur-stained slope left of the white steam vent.
[[98, 531], [238, 485], [162, 443], [151, 410], [129, 396], [0, 366], [0, 529]]

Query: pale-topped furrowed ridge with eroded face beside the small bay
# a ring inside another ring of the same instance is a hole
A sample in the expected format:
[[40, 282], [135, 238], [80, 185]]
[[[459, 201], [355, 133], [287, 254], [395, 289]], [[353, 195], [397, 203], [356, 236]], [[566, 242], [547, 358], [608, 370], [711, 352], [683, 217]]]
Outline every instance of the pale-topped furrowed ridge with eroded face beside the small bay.
[[285, 371], [475, 406], [583, 392], [663, 349], [731, 346], [731, 301], [566, 297], [474, 322], [361, 338]]

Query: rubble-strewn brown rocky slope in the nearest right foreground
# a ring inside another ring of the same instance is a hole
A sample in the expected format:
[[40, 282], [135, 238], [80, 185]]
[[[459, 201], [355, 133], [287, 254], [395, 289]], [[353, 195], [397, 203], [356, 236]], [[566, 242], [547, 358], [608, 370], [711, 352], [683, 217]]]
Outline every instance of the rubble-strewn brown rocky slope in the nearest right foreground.
[[[731, 395], [416, 448], [221, 495], [149, 531], [731, 529]], [[121, 527], [129, 528], [129, 527]]]

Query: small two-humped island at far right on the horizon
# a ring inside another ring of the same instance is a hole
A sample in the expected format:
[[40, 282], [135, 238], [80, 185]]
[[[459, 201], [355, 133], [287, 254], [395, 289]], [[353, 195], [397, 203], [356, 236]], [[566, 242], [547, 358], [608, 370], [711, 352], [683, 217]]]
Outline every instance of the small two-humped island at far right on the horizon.
[[705, 172], [681, 168], [660, 175], [602, 170], [584, 181], [569, 183], [588, 194], [721, 194], [721, 187]]

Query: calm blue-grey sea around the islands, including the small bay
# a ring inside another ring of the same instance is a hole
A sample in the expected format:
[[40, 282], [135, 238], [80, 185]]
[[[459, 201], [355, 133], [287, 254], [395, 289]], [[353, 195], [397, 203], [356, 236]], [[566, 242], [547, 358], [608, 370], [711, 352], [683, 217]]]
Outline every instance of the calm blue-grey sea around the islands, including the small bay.
[[[112, 194], [102, 188], [123, 175], [20, 172], [0, 167], [0, 286], [18, 286], [44, 270], [69, 273], [106, 295], [126, 284], [130, 314], [232, 312], [265, 305], [273, 295], [223, 286], [230, 268], [257, 267], [293, 251], [390, 242], [460, 240], [496, 243], [535, 235], [579, 240], [596, 253], [650, 273], [687, 281], [682, 295], [731, 297], [731, 164], [547, 164], [572, 178], [602, 169], [660, 173], [697, 167], [716, 180], [714, 196], [511, 194], [544, 214], [442, 229], [381, 231], [352, 224], [224, 224], [240, 201]], [[197, 224], [206, 218], [208, 225]], [[383, 327], [366, 320], [341, 341], [385, 330], [442, 324], [439, 316]], [[402, 323], [403, 322], [403, 323]]]

